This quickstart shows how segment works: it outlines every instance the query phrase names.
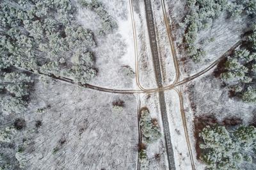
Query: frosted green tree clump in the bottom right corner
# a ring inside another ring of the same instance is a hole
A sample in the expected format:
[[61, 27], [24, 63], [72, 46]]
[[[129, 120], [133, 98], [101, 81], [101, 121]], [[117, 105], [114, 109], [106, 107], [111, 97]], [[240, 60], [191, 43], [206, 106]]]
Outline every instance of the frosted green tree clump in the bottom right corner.
[[255, 148], [256, 128], [241, 126], [232, 132], [225, 127], [205, 127], [199, 134], [200, 159], [207, 169], [239, 169], [243, 162], [252, 162]]

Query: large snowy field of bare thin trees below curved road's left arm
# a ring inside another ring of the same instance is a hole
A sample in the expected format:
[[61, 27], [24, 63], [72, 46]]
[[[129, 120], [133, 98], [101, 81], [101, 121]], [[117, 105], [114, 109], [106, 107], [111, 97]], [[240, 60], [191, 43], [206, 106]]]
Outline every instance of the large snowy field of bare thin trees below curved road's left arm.
[[[124, 100], [125, 107], [113, 112], [112, 102], [118, 98]], [[33, 137], [31, 147], [35, 151], [26, 153], [29, 169], [136, 168], [134, 95], [102, 93], [56, 82], [47, 88], [36, 84], [31, 100], [31, 110], [36, 109], [35, 105], [51, 107], [42, 113], [24, 115], [28, 128], [35, 120], [42, 120], [42, 127]], [[61, 139], [65, 140], [63, 144]], [[56, 147], [59, 150], [53, 154]]]

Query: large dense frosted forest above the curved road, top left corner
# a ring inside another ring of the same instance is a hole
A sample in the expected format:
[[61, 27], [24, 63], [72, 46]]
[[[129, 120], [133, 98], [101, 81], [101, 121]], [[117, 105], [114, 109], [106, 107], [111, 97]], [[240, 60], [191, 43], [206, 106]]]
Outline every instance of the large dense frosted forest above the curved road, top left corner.
[[[0, 68], [19, 66], [57, 77], [60, 72], [75, 73], [76, 77], [91, 73], [88, 70], [93, 70], [94, 63], [88, 56], [92, 56], [96, 43], [92, 31], [77, 24], [73, 16], [76, 6], [71, 1], [12, 0], [0, 6]], [[81, 52], [84, 50], [88, 53]], [[79, 52], [81, 63], [70, 65], [70, 58]], [[63, 56], [66, 60], [59, 65]], [[84, 77], [87, 80], [93, 76], [91, 73]]]

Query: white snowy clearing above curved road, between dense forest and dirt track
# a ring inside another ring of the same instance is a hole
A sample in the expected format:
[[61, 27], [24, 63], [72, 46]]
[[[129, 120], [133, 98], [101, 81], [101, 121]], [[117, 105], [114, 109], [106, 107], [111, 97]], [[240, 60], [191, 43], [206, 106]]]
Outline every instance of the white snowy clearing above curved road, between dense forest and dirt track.
[[[113, 89], [132, 89], [134, 79], [122, 72], [122, 66], [131, 66], [135, 72], [134, 42], [129, 1], [102, 1], [108, 13], [118, 23], [118, 30], [106, 37], [99, 35], [100, 19], [90, 10], [79, 9], [77, 19], [84, 27], [95, 33], [97, 47], [93, 49], [96, 56], [97, 77], [90, 84]], [[118, 7], [118, 8], [117, 8]]]

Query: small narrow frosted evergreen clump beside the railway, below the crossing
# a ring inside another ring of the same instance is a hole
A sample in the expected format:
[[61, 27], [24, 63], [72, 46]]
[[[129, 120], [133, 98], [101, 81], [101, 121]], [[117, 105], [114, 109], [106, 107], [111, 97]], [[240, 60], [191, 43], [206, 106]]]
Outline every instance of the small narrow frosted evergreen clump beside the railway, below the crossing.
[[161, 132], [157, 123], [153, 123], [147, 109], [143, 109], [140, 114], [140, 127], [142, 135], [147, 143], [153, 143], [161, 137]]

